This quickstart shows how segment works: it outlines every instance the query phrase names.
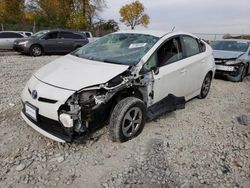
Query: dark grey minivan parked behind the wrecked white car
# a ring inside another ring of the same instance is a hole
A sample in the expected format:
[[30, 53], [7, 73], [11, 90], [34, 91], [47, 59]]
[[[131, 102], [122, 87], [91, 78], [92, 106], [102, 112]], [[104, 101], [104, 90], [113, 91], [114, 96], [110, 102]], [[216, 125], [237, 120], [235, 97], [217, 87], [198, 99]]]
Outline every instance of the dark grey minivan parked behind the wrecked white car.
[[66, 54], [80, 48], [89, 41], [78, 32], [65, 30], [45, 30], [31, 35], [26, 39], [14, 42], [14, 50], [32, 56], [42, 54]]

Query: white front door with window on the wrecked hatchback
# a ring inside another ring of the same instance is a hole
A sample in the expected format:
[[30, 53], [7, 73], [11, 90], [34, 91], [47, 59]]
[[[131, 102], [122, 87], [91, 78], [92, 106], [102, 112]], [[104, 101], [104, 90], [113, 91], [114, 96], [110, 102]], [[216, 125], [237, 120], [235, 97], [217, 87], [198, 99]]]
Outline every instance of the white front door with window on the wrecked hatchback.
[[159, 102], [168, 94], [185, 97], [187, 71], [180, 37], [167, 39], [151, 58], [157, 61], [158, 69], [154, 71], [153, 103]]

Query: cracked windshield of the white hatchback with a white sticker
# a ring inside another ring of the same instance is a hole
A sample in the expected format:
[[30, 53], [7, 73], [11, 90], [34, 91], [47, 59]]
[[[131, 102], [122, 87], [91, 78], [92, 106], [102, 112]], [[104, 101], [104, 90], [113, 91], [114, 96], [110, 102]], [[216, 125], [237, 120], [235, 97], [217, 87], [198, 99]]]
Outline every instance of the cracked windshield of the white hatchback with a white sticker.
[[110, 34], [83, 46], [72, 55], [106, 63], [135, 65], [158, 40], [151, 35]]

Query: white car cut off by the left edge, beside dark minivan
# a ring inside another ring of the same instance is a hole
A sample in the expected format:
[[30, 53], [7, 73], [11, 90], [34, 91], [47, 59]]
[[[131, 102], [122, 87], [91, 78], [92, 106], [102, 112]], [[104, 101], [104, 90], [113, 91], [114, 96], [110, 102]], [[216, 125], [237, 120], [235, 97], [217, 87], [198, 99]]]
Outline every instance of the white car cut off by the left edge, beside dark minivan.
[[16, 39], [27, 36], [15, 31], [0, 31], [0, 50], [13, 50], [13, 44]]

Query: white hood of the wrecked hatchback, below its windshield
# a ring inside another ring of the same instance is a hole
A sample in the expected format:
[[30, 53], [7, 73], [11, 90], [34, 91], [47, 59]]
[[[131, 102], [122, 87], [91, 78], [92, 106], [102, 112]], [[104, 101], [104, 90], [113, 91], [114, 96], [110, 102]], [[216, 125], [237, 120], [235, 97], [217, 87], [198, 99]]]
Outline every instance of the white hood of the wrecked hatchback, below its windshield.
[[106, 83], [128, 67], [66, 55], [45, 65], [34, 76], [44, 83], [77, 91]]

